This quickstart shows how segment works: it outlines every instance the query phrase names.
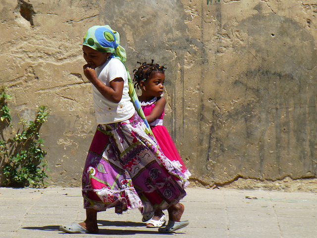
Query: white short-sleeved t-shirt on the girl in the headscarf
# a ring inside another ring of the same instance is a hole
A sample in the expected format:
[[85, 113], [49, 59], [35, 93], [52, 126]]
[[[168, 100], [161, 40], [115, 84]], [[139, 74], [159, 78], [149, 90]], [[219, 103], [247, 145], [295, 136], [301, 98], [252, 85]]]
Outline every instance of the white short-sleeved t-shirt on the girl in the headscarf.
[[124, 64], [118, 59], [111, 58], [110, 60], [106, 60], [104, 64], [96, 67], [95, 70], [97, 77], [106, 86], [109, 86], [109, 82], [115, 78], [123, 78], [124, 80], [122, 98], [119, 103], [107, 100], [92, 84], [97, 123], [108, 124], [131, 118], [135, 109], [129, 96], [128, 77]]

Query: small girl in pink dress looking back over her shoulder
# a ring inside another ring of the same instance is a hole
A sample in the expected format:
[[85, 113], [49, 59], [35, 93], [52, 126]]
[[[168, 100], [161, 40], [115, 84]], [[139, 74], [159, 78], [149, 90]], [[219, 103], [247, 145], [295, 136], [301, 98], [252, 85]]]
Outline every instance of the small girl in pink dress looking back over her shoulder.
[[[165, 80], [165, 67], [154, 64], [153, 61], [152, 63], [140, 63], [141, 66], [134, 70], [135, 86], [138, 85], [142, 90], [139, 101], [163, 154], [188, 179], [191, 174], [186, 169], [167, 129], [163, 126], [166, 100], [161, 96]], [[160, 227], [165, 222], [164, 220], [165, 216], [162, 210], [157, 209], [154, 217], [147, 223], [147, 227]]]

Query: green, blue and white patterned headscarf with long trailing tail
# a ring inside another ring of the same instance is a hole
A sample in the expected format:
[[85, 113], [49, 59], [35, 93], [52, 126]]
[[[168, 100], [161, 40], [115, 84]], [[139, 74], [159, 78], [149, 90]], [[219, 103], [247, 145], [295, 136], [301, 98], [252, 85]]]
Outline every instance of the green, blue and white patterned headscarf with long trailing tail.
[[[127, 59], [126, 53], [123, 47], [120, 45], [120, 35], [118, 32], [113, 31], [110, 26], [93, 26], [88, 29], [86, 35], [84, 36], [84, 46], [88, 46], [96, 51], [103, 53], [111, 53], [111, 58], [114, 57], [120, 60], [124, 66]], [[148, 127], [146, 133], [152, 134], [152, 130], [147, 119], [144, 116], [140, 102], [138, 100], [137, 94], [134, 90], [133, 83], [129, 74], [127, 67], [125, 66], [128, 75], [128, 85], [129, 85], [129, 96], [131, 102], [133, 103], [135, 110], [138, 115], [143, 119], [144, 123]]]

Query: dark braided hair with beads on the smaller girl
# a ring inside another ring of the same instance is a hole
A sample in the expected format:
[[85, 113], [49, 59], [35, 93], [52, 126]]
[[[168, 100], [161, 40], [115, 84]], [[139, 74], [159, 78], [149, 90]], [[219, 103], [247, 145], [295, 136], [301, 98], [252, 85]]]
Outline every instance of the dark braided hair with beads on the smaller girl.
[[154, 73], [157, 73], [157, 72], [164, 73], [164, 69], [166, 69], [166, 67], [159, 66], [158, 63], [153, 63], [153, 62], [154, 62], [154, 60], [152, 60], [151, 63], [137, 62], [137, 63], [140, 64], [140, 67], [133, 70], [133, 72], [135, 72], [134, 73], [134, 78], [133, 78], [133, 81], [135, 82], [134, 83], [134, 88], [138, 87], [138, 89], [139, 89], [140, 82], [141, 81], [145, 81], [148, 78], [150, 78], [152, 72], [154, 72]]

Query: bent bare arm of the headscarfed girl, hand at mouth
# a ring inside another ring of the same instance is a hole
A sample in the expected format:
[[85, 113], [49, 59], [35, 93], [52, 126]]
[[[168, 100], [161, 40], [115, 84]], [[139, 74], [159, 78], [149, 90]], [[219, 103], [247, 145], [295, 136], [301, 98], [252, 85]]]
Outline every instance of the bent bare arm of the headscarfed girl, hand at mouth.
[[95, 69], [88, 67], [87, 64], [84, 65], [84, 74], [107, 100], [113, 103], [121, 101], [124, 87], [123, 78], [120, 77], [111, 80], [109, 83], [110, 87], [108, 87], [97, 78]]

